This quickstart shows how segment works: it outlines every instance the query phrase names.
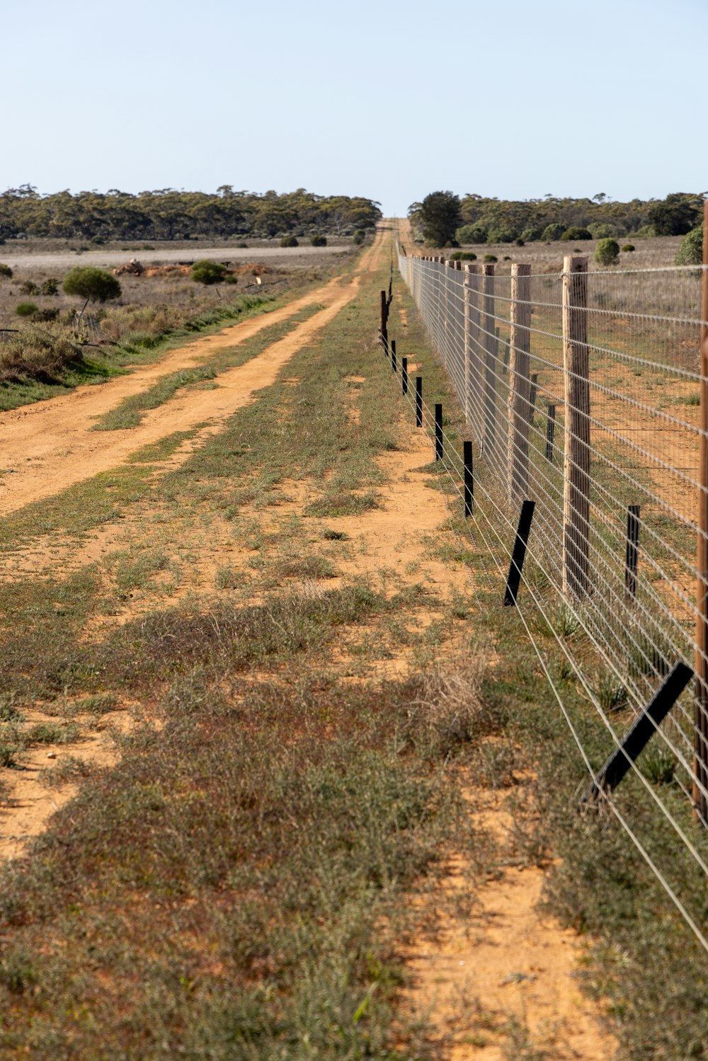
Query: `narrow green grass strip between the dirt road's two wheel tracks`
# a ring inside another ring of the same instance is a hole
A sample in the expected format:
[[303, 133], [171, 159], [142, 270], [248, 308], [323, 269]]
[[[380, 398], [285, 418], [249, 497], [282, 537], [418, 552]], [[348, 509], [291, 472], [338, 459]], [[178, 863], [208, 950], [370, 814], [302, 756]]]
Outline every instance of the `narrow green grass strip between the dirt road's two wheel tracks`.
[[214, 380], [220, 372], [227, 368], [236, 368], [245, 364], [252, 358], [262, 353], [271, 344], [289, 334], [298, 324], [309, 319], [315, 313], [323, 310], [320, 302], [313, 302], [304, 307], [284, 321], [271, 325], [260, 331], [257, 336], [244, 341], [234, 347], [215, 352], [205, 359], [204, 364], [195, 368], [183, 368], [176, 372], [169, 372], [158, 380], [152, 387], [131, 395], [110, 410], [93, 424], [91, 431], [119, 431], [126, 428], [137, 428], [142, 422], [144, 413], [151, 408], [158, 408], [166, 401], [169, 401], [183, 387], [193, 386], [209, 380]]

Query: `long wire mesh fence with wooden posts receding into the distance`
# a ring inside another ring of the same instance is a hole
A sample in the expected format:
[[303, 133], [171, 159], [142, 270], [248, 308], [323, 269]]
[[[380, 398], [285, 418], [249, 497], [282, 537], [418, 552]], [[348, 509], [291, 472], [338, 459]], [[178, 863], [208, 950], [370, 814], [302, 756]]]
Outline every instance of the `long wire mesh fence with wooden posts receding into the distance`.
[[[533, 500], [522, 593], [616, 747], [677, 661], [695, 668], [656, 743], [706, 823], [705, 266], [587, 272], [568, 258], [559, 274], [496, 275], [493, 263], [400, 251], [398, 263], [465, 413], [471, 522], [490, 573], [505, 577], [521, 503]], [[445, 466], [462, 495], [452, 450]]]

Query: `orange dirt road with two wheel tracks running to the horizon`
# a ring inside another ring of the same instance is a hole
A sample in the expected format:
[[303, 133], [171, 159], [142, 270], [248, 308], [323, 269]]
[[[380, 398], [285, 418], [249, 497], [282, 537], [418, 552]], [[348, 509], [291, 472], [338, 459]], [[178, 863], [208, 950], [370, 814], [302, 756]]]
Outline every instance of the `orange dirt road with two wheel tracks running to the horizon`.
[[[335, 277], [273, 313], [179, 347], [157, 365], [137, 369], [98, 387], [80, 387], [61, 398], [1, 414], [2, 510], [15, 511], [115, 468], [142, 446], [175, 431], [189, 431], [200, 423], [207, 423], [205, 436], [218, 431], [226, 417], [273, 383], [290, 358], [351, 301], [359, 290], [361, 274], [379, 260], [382, 239], [379, 233], [375, 244], [363, 255], [359, 273], [348, 283]], [[324, 306], [323, 310], [257, 358], [221, 373], [215, 389], [178, 392], [171, 401], [150, 411], [138, 428], [110, 432], [90, 430], [98, 417], [115, 408], [124, 398], [152, 386], [160, 377], [198, 365], [214, 350], [236, 346], [263, 328], [292, 317], [303, 307], [317, 302]]]

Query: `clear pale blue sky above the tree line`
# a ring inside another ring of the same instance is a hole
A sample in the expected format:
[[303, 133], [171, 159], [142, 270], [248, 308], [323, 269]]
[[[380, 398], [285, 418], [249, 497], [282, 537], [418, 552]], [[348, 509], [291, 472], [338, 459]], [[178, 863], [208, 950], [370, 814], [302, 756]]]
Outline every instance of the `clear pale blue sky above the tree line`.
[[[708, 0], [0, 0], [2, 188], [708, 190]], [[701, 131], [704, 129], [702, 133]]]

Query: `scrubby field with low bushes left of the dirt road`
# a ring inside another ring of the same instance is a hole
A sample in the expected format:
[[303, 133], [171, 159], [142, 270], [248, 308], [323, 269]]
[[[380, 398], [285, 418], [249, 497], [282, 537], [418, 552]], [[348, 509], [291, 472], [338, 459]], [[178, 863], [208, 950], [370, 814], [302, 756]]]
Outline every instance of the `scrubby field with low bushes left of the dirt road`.
[[[195, 282], [189, 269], [119, 279], [100, 269], [120, 290], [110, 300], [90, 300], [83, 316], [85, 298], [63, 289], [83, 266], [8, 266], [10, 276], [0, 271], [0, 410], [100, 383], [128, 364], [154, 361], [189, 335], [269, 312], [341, 269], [347, 259], [345, 249], [333, 259], [298, 265], [255, 258], [227, 271], [217, 262], [222, 281], [231, 282], [209, 284]], [[18, 315], [22, 306], [31, 309]]]

